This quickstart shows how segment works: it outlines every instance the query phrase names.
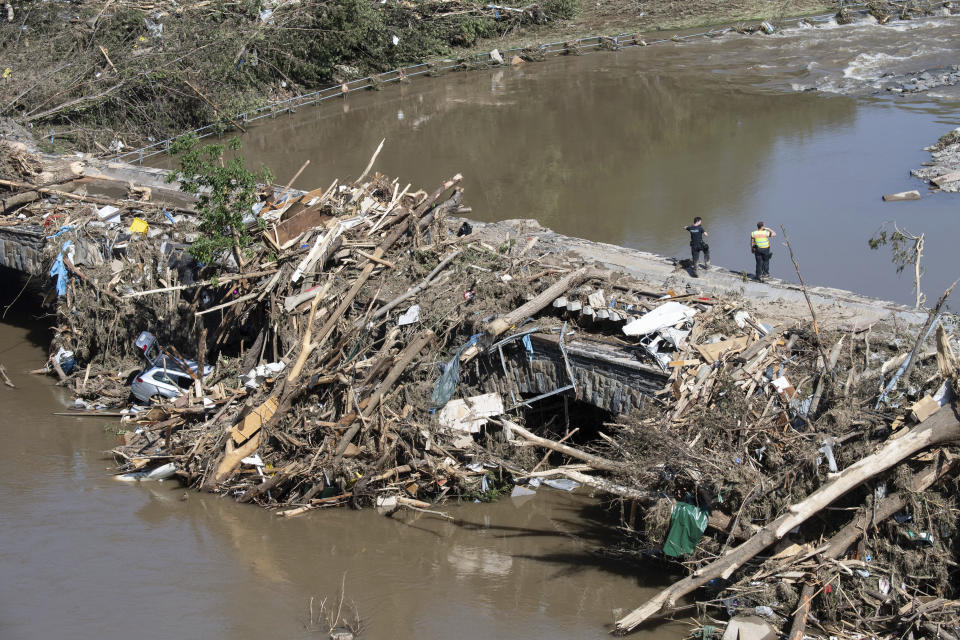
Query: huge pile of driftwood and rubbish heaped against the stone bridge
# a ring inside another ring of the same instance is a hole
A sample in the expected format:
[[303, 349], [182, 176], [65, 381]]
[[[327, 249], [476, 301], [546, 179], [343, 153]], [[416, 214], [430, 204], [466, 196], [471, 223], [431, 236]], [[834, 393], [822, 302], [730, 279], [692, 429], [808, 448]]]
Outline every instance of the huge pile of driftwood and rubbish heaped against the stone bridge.
[[[643, 557], [689, 529], [678, 511], [702, 516], [671, 554], [689, 575], [617, 630], [687, 617], [692, 594], [701, 637], [748, 613], [797, 639], [956, 637], [948, 294], [923, 327], [780, 324], [746, 300], [658, 291], [473, 231], [451, 218], [466, 211], [459, 176], [427, 193], [367, 180], [369, 167], [307, 193], [264, 188], [248, 212], [257, 242], [201, 266], [189, 207], [136, 189], [44, 193], [40, 167], [21, 164], [8, 184], [26, 186], [8, 195], [37, 198], [2, 223], [50, 236], [50, 367], [85, 410], [127, 414], [121, 477], [177, 477], [286, 517], [341, 504], [443, 515], [448, 498], [560, 478], [621, 505], [624, 545]], [[129, 408], [143, 330], [192, 380]], [[600, 424], [525, 421], [585, 398], [574, 335], [643, 363], [661, 390]], [[506, 374], [504, 350], [530, 337], [557, 345], [571, 384], [507, 403], [484, 372]]]

